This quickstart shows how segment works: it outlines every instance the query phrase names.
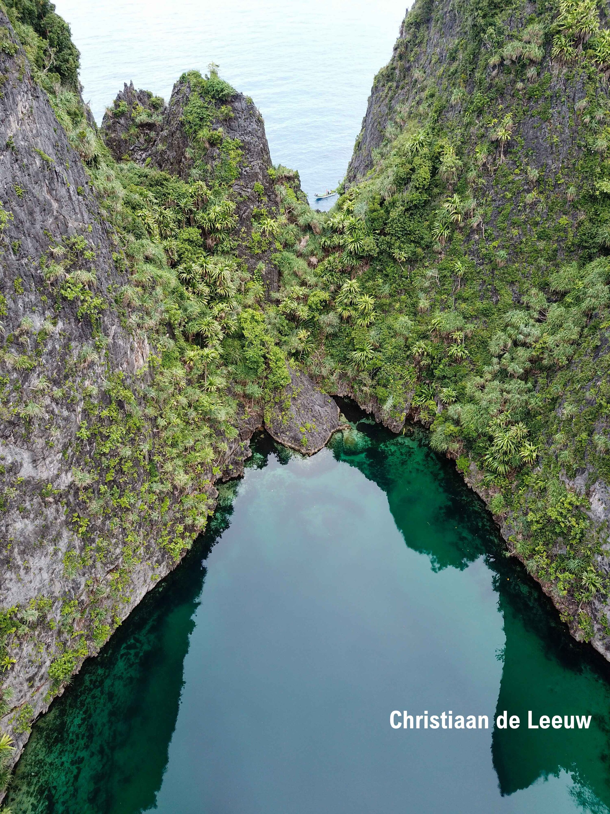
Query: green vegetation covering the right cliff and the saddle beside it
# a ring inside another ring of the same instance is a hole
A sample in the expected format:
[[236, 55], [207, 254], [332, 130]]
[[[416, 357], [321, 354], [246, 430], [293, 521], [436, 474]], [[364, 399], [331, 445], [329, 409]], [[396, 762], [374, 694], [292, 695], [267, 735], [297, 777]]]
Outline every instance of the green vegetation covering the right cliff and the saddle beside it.
[[[329, 392], [349, 383], [394, 425], [411, 415], [429, 427], [588, 639], [588, 603], [610, 589], [598, 563], [606, 530], [573, 479], [610, 475], [597, 350], [610, 324], [610, 33], [595, 2], [535, 17], [518, 3], [466, 3], [447, 61], [424, 73], [428, 26], [442, 26], [431, 8], [416, 3], [376, 78], [391, 112], [367, 177], [329, 215], [279, 187], [277, 341]], [[560, 71], [583, 88], [573, 107]], [[551, 104], [580, 145], [560, 175]], [[528, 118], [548, 123], [535, 150], [519, 135]]]

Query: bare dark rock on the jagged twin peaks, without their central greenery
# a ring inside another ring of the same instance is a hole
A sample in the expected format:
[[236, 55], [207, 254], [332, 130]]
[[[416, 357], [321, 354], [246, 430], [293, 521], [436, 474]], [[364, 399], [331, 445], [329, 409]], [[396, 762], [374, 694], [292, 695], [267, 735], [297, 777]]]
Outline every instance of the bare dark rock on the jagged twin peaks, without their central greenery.
[[[107, 112], [102, 121], [102, 137], [115, 159], [120, 161], [129, 156], [137, 164], [147, 163], [188, 180], [194, 164], [193, 144], [185, 132], [184, 115], [193, 93], [189, 78], [181, 77], [173, 87], [168, 105], [157, 114], [151, 107], [150, 98], [153, 97], [149, 91], [136, 91], [133, 83], [124, 85], [110, 109], [112, 112]], [[134, 116], [133, 112], [141, 108], [149, 112], [150, 122], [142, 116], [142, 125], [137, 125], [137, 115]], [[216, 103], [207, 129], [212, 133], [220, 131], [242, 152], [238, 161], [239, 177], [231, 184], [233, 200], [237, 204], [237, 255], [246, 260], [251, 271], [262, 263], [268, 290], [277, 291], [278, 273], [271, 263], [270, 250], [258, 251], [247, 245], [252, 233], [253, 210], [264, 206], [271, 214], [278, 211], [277, 194], [268, 174], [272, 164], [263, 117], [251, 98], [237, 93], [225, 103]], [[220, 145], [211, 144], [205, 155], [211, 174], [222, 161]], [[255, 185], [260, 186], [255, 189]]]

